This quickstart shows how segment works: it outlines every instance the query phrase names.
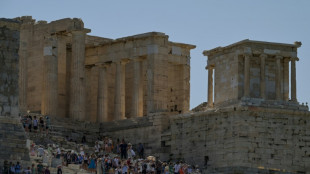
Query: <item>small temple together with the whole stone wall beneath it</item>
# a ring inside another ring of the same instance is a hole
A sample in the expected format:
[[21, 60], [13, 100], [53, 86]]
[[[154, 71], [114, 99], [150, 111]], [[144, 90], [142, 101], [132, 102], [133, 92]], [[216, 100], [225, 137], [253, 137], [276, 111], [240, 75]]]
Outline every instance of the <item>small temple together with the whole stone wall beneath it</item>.
[[300, 45], [244, 40], [204, 51], [206, 108], [104, 123], [100, 132], [143, 141], [147, 153], [199, 164], [204, 173], [307, 173], [310, 112], [296, 97]]

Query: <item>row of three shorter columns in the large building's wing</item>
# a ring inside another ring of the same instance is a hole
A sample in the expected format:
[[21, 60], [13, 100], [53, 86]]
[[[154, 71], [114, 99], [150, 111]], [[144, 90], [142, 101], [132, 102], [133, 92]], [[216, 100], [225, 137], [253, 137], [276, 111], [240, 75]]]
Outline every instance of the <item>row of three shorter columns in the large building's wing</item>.
[[[99, 122], [111, 121], [108, 117], [108, 102], [110, 94], [108, 91], [108, 68], [114, 63], [115, 71], [115, 92], [114, 92], [114, 119], [125, 119], [125, 66], [131, 61], [123, 59], [115, 62], [97, 64], [99, 66], [99, 86], [98, 86], [98, 112]], [[131, 104], [131, 115], [135, 117], [143, 116], [143, 81], [142, 81], [142, 61], [141, 58], [132, 59], [134, 63], [133, 95]]]

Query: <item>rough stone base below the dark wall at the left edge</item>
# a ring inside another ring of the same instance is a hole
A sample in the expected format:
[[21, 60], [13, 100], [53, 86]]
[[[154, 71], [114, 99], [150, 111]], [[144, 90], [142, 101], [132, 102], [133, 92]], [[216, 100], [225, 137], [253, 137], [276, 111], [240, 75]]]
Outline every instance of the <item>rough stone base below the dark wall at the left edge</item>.
[[31, 166], [26, 135], [18, 118], [0, 116], [0, 167], [4, 160]]

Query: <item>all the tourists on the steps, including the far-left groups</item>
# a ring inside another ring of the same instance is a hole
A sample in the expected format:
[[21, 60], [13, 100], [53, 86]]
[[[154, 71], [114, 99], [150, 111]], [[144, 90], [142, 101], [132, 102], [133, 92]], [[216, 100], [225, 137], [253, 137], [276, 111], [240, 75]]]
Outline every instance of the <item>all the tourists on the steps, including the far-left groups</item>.
[[[26, 132], [48, 133], [50, 120], [48, 116], [22, 117], [21, 122]], [[67, 138], [69, 141], [69, 138]], [[76, 144], [71, 149], [64, 149], [59, 145], [48, 144], [35, 145], [30, 147], [30, 155], [36, 157], [48, 157], [58, 159], [57, 174], [62, 174], [62, 166], [71, 164], [78, 165], [80, 169], [97, 174], [198, 174], [198, 166], [188, 165], [182, 161], [167, 162], [160, 161], [154, 156], [145, 157], [142, 143], [133, 146], [124, 139], [111, 137], [100, 137], [94, 143], [94, 147], [89, 148], [86, 144], [86, 137], [82, 137], [81, 144]], [[50, 161], [51, 162], [51, 161]], [[31, 167], [22, 168], [17, 162], [8, 163], [5, 161], [3, 173], [5, 174], [50, 174], [49, 167], [44, 160]], [[55, 167], [55, 166], [54, 166]]]

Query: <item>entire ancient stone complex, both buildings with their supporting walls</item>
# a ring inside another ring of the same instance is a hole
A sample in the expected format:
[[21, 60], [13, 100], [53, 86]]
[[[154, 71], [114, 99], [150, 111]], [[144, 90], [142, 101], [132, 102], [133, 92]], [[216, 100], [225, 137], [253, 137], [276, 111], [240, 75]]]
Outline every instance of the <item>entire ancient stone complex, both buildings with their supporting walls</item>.
[[[310, 171], [310, 112], [296, 96], [300, 42], [243, 40], [204, 51], [208, 104], [194, 112], [193, 45], [157, 32], [116, 40], [90, 36], [80, 19], [21, 17], [0, 24], [1, 114], [15, 115], [19, 98], [21, 112], [58, 115], [51, 117], [58, 135], [141, 142], [146, 155], [198, 164], [203, 173]], [[20, 148], [12, 159], [27, 162], [25, 142], [6, 136], [24, 135], [10, 118], [0, 119], [0, 142], [19, 145], [0, 146]]]

